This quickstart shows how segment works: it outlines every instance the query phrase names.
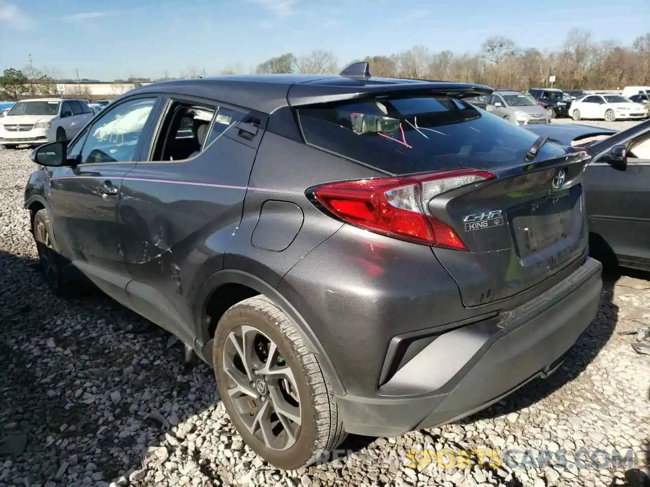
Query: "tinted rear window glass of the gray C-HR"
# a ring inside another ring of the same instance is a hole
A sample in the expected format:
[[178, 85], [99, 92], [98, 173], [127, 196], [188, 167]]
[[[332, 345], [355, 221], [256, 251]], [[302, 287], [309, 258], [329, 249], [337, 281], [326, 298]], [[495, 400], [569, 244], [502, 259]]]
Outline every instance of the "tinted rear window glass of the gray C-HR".
[[[449, 97], [312, 105], [298, 116], [308, 144], [393, 174], [523, 164], [538, 137]], [[547, 142], [537, 158], [564, 153]]]

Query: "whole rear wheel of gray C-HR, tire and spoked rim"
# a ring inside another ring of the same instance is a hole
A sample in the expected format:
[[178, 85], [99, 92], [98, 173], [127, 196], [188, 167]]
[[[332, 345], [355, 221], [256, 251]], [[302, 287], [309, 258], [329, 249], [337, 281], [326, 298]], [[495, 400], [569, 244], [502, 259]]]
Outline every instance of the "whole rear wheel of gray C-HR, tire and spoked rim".
[[226, 411], [248, 446], [276, 468], [309, 466], [346, 434], [318, 358], [270, 299], [231, 306], [214, 333], [213, 365]]

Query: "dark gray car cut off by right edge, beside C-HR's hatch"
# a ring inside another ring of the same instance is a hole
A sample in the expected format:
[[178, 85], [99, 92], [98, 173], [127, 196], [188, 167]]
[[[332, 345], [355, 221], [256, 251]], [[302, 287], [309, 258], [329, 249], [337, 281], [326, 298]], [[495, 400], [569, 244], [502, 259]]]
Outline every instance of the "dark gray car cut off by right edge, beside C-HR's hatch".
[[591, 156], [584, 171], [591, 255], [650, 271], [650, 121], [621, 132], [569, 123], [528, 130]]

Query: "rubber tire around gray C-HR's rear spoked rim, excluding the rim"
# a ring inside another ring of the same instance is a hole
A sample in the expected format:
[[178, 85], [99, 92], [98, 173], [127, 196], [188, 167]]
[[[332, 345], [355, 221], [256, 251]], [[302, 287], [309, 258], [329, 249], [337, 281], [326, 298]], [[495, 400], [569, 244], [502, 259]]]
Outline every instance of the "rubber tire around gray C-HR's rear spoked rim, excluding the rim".
[[[250, 325], [266, 334], [277, 345], [294, 375], [302, 421], [295, 443], [287, 449], [269, 448], [253, 436], [226, 392], [229, 376], [222, 366], [224, 346], [231, 332], [240, 325]], [[338, 407], [317, 357], [307, 350], [291, 320], [267, 297], [245, 299], [231, 306], [222, 316], [214, 333], [213, 365], [222, 401], [240, 436], [257, 455], [276, 468], [309, 466], [324, 458], [345, 439]]]

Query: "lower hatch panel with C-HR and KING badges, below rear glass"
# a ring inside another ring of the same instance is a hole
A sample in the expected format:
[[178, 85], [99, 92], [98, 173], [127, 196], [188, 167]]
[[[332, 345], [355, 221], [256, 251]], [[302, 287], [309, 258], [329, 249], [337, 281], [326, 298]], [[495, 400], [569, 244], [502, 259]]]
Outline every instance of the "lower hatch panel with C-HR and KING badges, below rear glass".
[[[467, 252], [432, 247], [458, 283], [463, 304], [478, 306], [522, 292], [584, 256], [588, 245], [580, 183], [584, 153], [541, 167], [491, 169], [478, 188], [439, 195], [429, 203]], [[460, 194], [459, 194], [460, 193]]]

